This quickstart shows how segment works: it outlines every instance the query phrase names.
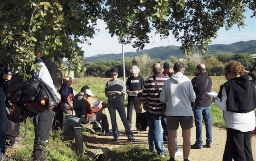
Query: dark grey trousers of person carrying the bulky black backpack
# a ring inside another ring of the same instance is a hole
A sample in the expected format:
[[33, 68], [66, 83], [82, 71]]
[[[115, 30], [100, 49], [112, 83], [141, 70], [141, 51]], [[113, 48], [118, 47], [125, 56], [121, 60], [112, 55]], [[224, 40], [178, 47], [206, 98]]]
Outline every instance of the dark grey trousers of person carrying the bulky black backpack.
[[38, 126], [36, 127], [36, 119], [34, 118], [34, 127], [37, 128], [38, 138], [35, 136], [33, 160], [44, 161], [45, 147], [49, 143], [51, 125], [53, 121], [53, 111], [46, 110], [38, 116]]

